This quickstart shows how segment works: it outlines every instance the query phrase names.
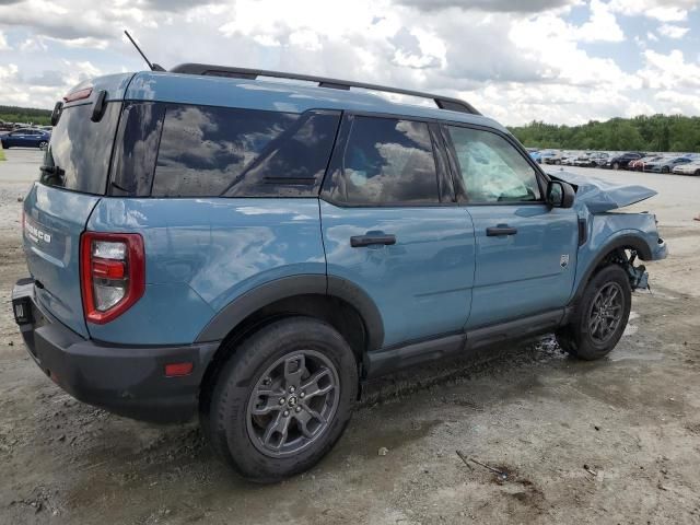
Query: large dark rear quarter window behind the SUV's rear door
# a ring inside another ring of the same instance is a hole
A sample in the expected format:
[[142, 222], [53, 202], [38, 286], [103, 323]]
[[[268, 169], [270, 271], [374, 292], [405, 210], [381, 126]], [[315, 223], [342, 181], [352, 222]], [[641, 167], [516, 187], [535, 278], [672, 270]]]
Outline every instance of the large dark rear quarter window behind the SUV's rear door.
[[316, 196], [338, 112], [165, 109], [153, 197]]

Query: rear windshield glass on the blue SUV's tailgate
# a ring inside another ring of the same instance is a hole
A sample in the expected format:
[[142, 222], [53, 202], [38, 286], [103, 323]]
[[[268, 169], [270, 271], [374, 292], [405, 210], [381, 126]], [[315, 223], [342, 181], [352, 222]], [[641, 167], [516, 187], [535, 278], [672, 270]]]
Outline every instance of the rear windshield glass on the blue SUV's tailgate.
[[98, 122], [92, 104], [63, 108], [44, 155], [39, 180], [48, 186], [104, 195], [121, 103], [110, 102]]

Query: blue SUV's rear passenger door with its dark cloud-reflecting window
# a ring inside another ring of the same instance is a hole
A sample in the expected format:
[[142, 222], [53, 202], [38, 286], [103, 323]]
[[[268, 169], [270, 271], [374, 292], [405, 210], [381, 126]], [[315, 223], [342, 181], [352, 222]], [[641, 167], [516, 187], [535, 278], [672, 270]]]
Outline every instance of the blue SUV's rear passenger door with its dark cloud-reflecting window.
[[346, 115], [322, 191], [328, 275], [374, 301], [384, 347], [460, 331], [469, 312], [474, 230], [454, 202], [435, 130]]

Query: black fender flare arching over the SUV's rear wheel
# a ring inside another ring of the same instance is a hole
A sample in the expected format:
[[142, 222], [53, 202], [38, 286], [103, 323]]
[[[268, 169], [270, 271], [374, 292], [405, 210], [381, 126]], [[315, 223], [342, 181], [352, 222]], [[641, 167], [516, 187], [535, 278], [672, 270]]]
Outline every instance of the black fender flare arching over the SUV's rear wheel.
[[338, 298], [354, 307], [366, 330], [366, 350], [384, 343], [384, 322], [376, 304], [353, 282], [325, 273], [305, 273], [275, 279], [242, 294], [224, 306], [199, 332], [195, 342], [223, 340], [231, 330], [258, 310], [295, 295], [318, 294]]

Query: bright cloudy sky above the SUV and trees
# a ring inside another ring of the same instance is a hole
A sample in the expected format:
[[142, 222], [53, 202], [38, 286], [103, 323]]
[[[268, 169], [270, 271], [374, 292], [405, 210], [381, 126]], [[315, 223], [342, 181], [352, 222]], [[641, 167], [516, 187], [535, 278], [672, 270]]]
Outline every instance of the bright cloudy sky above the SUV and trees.
[[0, 105], [198, 61], [397, 85], [515, 126], [700, 115], [700, 0], [0, 0]]

